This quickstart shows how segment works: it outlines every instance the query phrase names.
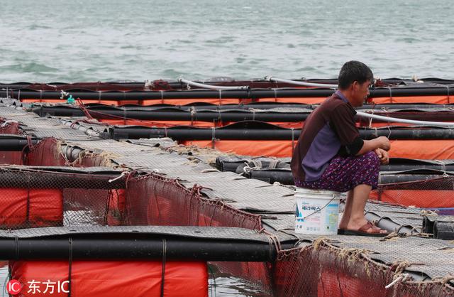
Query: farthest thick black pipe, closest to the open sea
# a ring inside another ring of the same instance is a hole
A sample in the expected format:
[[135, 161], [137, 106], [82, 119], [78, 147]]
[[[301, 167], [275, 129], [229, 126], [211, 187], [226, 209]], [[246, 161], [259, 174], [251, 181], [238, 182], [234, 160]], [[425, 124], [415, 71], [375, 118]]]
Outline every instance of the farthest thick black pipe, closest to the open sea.
[[[190, 91], [128, 91], [128, 92], [94, 92], [84, 90], [68, 90], [73, 97], [95, 100], [146, 100], [146, 99], [260, 99], [275, 97], [328, 97], [333, 94], [331, 89], [252, 89], [252, 90], [190, 90]], [[454, 95], [454, 87], [395, 87], [377, 88], [370, 91], [370, 97], [407, 97], [407, 96], [445, 96]], [[42, 91], [23, 89], [18, 91], [0, 90], [0, 97], [18, 99], [56, 99], [61, 100], [57, 91]]]

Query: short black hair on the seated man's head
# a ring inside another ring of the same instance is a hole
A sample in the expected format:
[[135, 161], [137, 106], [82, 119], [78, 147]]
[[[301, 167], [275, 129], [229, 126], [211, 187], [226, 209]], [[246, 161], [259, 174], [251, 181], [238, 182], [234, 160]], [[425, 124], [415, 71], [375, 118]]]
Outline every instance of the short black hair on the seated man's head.
[[348, 61], [339, 72], [338, 87], [341, 90], [345, 90], [355, 81], [363, 84], [367, 80], [372, 81], [373, 79], [372, 70], [367, 65], [359, 61]]

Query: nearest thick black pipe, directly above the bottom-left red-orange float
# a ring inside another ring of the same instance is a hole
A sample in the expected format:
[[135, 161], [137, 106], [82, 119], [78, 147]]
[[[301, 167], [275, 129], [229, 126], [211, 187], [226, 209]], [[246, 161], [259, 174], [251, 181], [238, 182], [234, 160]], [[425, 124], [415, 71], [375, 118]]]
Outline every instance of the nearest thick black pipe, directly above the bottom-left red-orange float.
[[72, 259], [162, 259], [163, 239], [166, 259], [203, 261], [273, 261], [275, 246], [269, 242], [239, 239], [165, 238], [143, 236], [106, 237], [60, 236], [39, 238], [2, 238], [2, 259], [68, 259], [69, 238]]

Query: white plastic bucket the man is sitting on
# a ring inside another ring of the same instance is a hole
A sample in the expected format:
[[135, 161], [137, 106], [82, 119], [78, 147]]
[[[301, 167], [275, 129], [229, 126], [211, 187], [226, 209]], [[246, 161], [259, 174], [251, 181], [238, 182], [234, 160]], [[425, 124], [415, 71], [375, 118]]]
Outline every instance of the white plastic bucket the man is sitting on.
[[341, 193], [328, 190], [297, 188], [295, 232], [335, 235], [338, 233]]

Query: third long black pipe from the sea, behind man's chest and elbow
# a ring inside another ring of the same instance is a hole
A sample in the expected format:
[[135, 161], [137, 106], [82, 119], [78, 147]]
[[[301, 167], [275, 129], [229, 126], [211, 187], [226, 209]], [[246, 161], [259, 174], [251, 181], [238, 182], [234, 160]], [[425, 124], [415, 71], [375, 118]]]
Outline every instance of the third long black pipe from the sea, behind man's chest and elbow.
[[[238, 124], [248, 125], [249, 123]], [[177, 141], [190, 140], [292, 140], [298, 139], [300, 129], [284, 129], [278, 126], [262, 126], [250, 129], [248, 126], [224, 126], [217, 129], [193, 127], [150, 128], [145, 126], [114, 126], [109, 133], [113, 139], [140, 139], [170, 137]], [[454, 129], [360, 129], [362, 139], [387, 136], [389, 139], [454, 139]]]

